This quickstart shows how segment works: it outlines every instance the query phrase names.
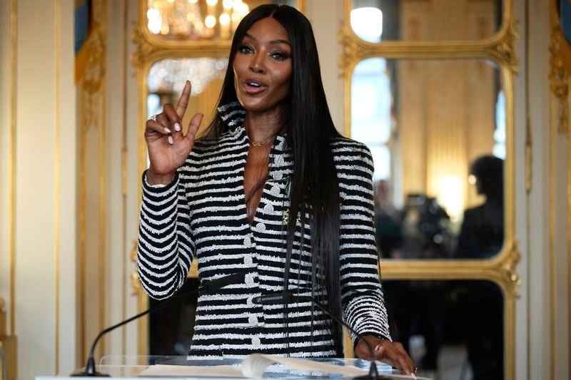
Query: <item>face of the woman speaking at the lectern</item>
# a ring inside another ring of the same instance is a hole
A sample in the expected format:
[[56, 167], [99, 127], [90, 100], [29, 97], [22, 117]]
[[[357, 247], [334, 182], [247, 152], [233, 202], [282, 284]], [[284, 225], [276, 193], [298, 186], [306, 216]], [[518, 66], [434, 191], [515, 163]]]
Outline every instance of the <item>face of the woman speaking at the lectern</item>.
[[256, 21], [242, 38], [232, 68], [236, 95], [246, 111], [278, 111], [290, 93], [288, 31], [272, 17]]

